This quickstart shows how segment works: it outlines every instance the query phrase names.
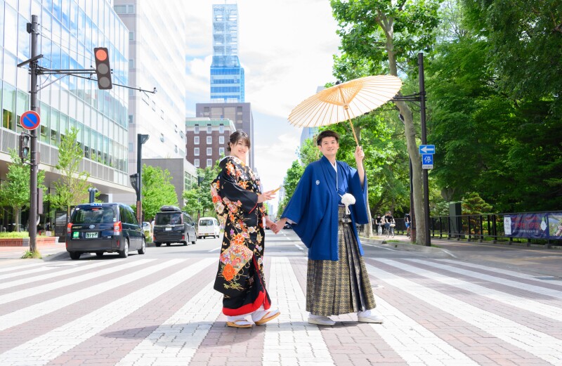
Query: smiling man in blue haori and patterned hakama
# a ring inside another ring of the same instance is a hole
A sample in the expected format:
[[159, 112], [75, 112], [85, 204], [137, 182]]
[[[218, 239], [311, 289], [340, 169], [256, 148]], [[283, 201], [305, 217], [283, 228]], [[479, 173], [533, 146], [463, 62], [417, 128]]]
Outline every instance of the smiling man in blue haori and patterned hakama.
[[322, 157], [309, 164], [281, 218], [308, 247], [306, 311], [308, 322], [334, 325], [330, 315], [357, 313], [360, 322], [382, 322], [376, 306], [355, 223], [368, 223], [367, 178], [355, 148], [357, 169], [336, 160], [339, 136], [322, 131], [316, 139]]

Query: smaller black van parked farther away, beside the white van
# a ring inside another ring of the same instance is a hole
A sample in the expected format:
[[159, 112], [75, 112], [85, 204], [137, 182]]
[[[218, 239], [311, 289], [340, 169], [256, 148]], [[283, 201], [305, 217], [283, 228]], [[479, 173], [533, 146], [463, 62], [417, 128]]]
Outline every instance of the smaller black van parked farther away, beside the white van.
[[154, 244], [159, 247], [162, 244], [197, 242], [195, 233], [195, 222], [188, 214], [176, 206], [162, 206], [154, 218], [153, 228]]

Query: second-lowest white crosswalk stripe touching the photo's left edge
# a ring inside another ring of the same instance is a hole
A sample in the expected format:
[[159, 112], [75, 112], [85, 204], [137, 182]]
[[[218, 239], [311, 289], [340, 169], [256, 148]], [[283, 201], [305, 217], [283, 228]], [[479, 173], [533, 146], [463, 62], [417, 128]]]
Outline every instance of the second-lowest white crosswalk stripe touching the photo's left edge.
[[[122, 269], [131, 268], [131, 267], [139, 266], [140, 264], [144, 264], [144, 263], [137, 263], [138, 261], [144, 262], [145, 260], [139, 259], [137, 261], [131, 261], [130, 263], [127, 263], [125, 266], [123, 266]], [[88, 299], [90, 297], [106, 292], [110, 289], [115, 289], [119, 286], [126, 285], [133, 281], [138, 281], [142, 277], [152, 275], [152, 273], [156, 273], [159, 270], [162, 270], [169, 266], [174, 266], [177, 263], [181, 263], [181, 261], [182, 261], [181, 259], [171, 259], [170, 261], [166, 261], [164, 263], [158, 264], [157, 266], [143, 268], [143, 270], [140, 271], [138, 275], [127, 274], [125, 276], [116, 277], [111, 282], [104, 282], [98, 285], [93, 285], [90, 287], [79, 289], [76, 292], [71, 292], [70, 294], [64, 296], [59, 296], [56, 297], [55, 299], [43, 301], [41, 303], [34, 303], [31, 306], [27, 306], [26, 308], [21, 308], [20, 310], [14, 311], [13, 313], [1, 315], [0, 331], [39, 318], [42, 315], [52, 313], [53, 311], [57, 311], [60, 308], [69, 306], [72, 303], [84, 299]]]

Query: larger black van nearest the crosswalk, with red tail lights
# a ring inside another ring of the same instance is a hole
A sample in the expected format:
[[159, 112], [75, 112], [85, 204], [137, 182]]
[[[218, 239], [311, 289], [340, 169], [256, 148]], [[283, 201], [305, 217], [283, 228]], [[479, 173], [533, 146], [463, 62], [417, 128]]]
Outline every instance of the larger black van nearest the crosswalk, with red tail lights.
[[79, 259], [82, 253], [119, 253], [126, 258], [129, 250], [145, 254], [143, 229], [135, 213], [122, 203], [87, 203], [74, 208], [67, 226], [66, 250], [70, 258]]

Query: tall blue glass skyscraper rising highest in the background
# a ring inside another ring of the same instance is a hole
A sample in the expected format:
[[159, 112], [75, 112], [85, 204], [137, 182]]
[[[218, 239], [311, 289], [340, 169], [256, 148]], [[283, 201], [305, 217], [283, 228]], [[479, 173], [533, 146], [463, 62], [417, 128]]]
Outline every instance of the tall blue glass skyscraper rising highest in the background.
[[238, 6], [213, 5], [211, 101], [244, 103], [244, 68], [238, 59]]

